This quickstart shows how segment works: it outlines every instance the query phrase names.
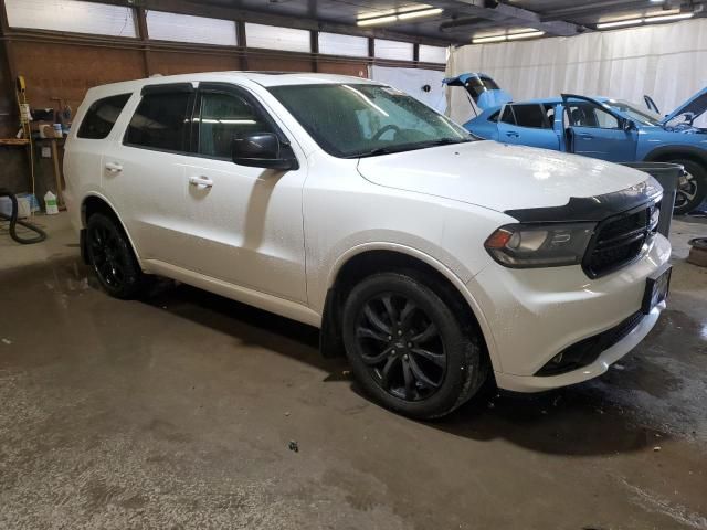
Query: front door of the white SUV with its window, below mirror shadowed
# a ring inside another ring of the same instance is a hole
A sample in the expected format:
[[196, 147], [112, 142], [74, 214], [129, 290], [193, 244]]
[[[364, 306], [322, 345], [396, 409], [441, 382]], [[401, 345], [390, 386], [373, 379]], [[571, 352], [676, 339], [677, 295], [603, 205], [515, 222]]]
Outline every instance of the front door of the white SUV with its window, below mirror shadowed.
[[193, 150], [184, 167], [184, 240], [193, 271], [306, 301], [302, 193], [307, 166], [281, 171], [235, 165], [234, 136], [275, 132], [288, 141], [247, 91], [202, 83], [192, 117]]

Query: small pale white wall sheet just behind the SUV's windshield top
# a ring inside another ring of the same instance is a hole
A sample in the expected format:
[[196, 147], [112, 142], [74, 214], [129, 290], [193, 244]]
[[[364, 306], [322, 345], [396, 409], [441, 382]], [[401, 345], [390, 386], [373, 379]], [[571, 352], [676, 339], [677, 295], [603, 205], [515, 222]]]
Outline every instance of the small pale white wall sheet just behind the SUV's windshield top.
[[[407, 92], [440, 113], [444, 113], [446, 108], [444, 87], [442, 86], [444, 72], [423, 68], [370, 66], [369, 75], [373, 81], [380, 81], [381, 83]], [[424, 91], [425, 86], [430, 87], [430, 92]]]

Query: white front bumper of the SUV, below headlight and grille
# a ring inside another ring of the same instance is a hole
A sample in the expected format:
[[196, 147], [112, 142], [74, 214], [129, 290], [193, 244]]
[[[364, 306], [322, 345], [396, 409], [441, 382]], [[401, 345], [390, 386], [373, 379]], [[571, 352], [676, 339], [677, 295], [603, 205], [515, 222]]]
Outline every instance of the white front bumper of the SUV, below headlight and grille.
[[653, 328], [665, 304], [599, 354], [590, 364], [558, 375], [536, 375], [557, 353], [610, 330], [641, 309], [646, 278], [671, 256], [656, 235], [633, 264], [597, 279], [581, 267], [510, 269], [493, 265], [468, 284], [490, 330], [486, 342], [498, 385], [537, 392], [579, 383], [604, 373]]

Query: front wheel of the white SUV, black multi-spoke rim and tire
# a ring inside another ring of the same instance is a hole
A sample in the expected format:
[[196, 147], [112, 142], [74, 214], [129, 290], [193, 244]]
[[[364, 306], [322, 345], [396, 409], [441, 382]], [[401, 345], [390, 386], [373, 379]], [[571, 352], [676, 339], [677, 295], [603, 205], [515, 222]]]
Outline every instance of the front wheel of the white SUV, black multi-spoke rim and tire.
[[369, 276], [349, 294], [342, 335], [351, 369], [377, 402], [429, 420], [462, 405], [487, 374], [478, 337], [423, 280]]

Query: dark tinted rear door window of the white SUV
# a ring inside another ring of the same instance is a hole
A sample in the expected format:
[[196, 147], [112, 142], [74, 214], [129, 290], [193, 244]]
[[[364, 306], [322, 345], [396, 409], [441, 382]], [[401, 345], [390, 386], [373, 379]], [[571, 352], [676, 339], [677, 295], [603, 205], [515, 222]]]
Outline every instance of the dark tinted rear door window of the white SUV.
[[192, 95], [184, 92], [145, 94], [125, 142], [169, 151], [187, 150]]

